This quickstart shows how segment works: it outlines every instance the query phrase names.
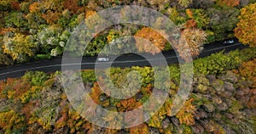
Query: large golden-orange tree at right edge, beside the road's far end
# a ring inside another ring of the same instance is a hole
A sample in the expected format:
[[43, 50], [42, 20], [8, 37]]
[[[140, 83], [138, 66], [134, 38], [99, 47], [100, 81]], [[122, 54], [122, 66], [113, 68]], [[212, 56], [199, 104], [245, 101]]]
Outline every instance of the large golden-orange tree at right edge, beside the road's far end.
[[236, 25], [235, 36], [240, 42], [256, 47], [256, 3], [241, 8], [241, 15], [238, 16], [239, 22]]

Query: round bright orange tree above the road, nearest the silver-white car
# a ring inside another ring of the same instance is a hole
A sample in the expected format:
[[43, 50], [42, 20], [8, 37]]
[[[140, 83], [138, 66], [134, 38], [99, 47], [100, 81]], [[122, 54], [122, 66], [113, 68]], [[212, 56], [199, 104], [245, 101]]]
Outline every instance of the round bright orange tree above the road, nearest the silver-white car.
[[135, 36], [147, 39], [148, 41], [152, 42], [155, 47], [159, 48], [155, 49], [155, 47], [152, 47], [150, 44], [142, 42], [140, 39], [136, 38], [136, 46], [140, 52], [148, 52], [152, 54], [160, 53], [160, 51], [166, 46], [166, 39], [161, 36], [160, 33], [148, 27], [143, 27], [141, 31], [137, 31]]

